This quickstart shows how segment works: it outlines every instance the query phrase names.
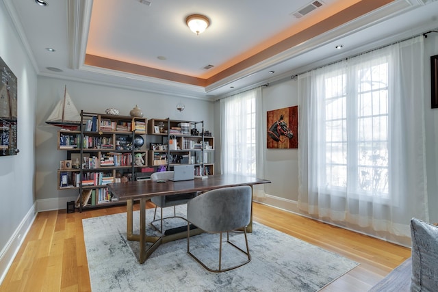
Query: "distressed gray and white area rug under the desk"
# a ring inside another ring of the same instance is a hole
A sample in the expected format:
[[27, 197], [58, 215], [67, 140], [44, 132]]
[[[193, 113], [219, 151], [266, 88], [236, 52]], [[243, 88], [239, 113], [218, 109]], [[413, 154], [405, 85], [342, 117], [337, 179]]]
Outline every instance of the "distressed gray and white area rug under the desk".
[[[179, 215], [184, 207], [178, 209]], [[135, 233], [138, 217], [134, 212]], [[147, 222], [152, 217], [153, 210], [148, 209]], [[164, 228], [186, 224], [181, 219], [165, 222]], [[92, 291], [319, 291], [358, 265], [257, 222], [248, 233], [252, 261], [237, 269], [205, 270], [187, 254], [187, 239], [160, 245], [140, 264], [138, 242], [126, 239], [126, 213], [88, 218], [82, 224]], [[157, 235], [150, 224], [146, 233]], [[233, 233], [231, 241], [245, 246], [242, 234]], [[190, 237], [190, 251], [207, 265], [217, 265], [218, 245], [219, 235]], [[222, 244], [222, 267], [245, 260], [229, 246]]]

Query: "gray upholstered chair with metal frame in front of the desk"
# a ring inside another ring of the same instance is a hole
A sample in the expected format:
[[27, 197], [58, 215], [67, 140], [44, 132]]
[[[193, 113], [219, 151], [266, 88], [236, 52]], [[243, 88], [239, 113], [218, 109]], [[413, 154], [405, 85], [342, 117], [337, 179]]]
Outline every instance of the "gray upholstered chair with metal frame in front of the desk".
[[[198, 263], [209, 271], [229, 271], [241, 267], [251, 261], [251, 256], [248, 248], [248, 238], [246, 236], [246, 226], [248, 226], [251, 217], [252, 194], [251, 187], [226, 187], [223, 189], [214, 189], [207, 191], [202, 195], [190, 200], [187, 203], [187, 220], [188, 220], [188, 235], [187, 235], [187, 252]], [[207, 267], [199, 260], [192, 252], [190, 252], [190, 224], [201, 228], [207, 233], [219, 233], [219, 268], [212, 269]], [[245, 236], [246, 251], [237, 247], [229, 241], [229, 232], [232, 230], [242, 229]], [[222, 233], [227, 233], [227, 243], [233, 245], [234, 248], [240, 250], [248, 257], [248, 260], [222, 269]]]

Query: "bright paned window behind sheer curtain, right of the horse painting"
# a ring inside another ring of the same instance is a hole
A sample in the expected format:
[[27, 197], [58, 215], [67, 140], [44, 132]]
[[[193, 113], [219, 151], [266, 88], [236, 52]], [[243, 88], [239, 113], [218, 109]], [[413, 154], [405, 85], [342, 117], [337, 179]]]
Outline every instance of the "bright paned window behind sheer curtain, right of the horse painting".
[[[388, 66], [353, 66], [324, 77], [325, 187], [388, 195]], [[350, 170], [350, 171], [349, 171]]]

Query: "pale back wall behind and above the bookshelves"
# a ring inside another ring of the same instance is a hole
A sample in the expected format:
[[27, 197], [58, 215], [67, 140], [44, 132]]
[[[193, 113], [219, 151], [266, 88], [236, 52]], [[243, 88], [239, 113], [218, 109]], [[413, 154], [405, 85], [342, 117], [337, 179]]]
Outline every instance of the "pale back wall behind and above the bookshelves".
[[[77, 190], [57, 190], [57, 169], [60, 160], [66, 159], [66, 151], [56, 150], [58, 127], [45, 123], [53, 107], [64, 96], [67, 86], [78, 111], [105, 113], [115, 107], [120, 115], [129, 116], [129, 111], [138, 105], [144, 117], [172, 118], [176, 120], [204, 120], [205, 129], [214, 133], [213, 103], [193, 98], [163, 96], [77, 81], [38, 77], [38, 101], [36, 105], [36, 198], [38, 210], [65, 209], [66, 202], [74, 200]], [[177, 110], [183, 103], [185, 109]], [[146, 144], [149, 143], [146, 137]]]

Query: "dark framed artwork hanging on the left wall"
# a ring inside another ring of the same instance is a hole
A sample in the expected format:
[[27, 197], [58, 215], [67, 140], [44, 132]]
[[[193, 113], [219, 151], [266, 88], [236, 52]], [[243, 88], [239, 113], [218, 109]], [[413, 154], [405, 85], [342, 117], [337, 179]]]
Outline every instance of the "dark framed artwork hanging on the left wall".
[[0, 156], [16, 155], [17, 79], [1, 58], [0, 77]]

